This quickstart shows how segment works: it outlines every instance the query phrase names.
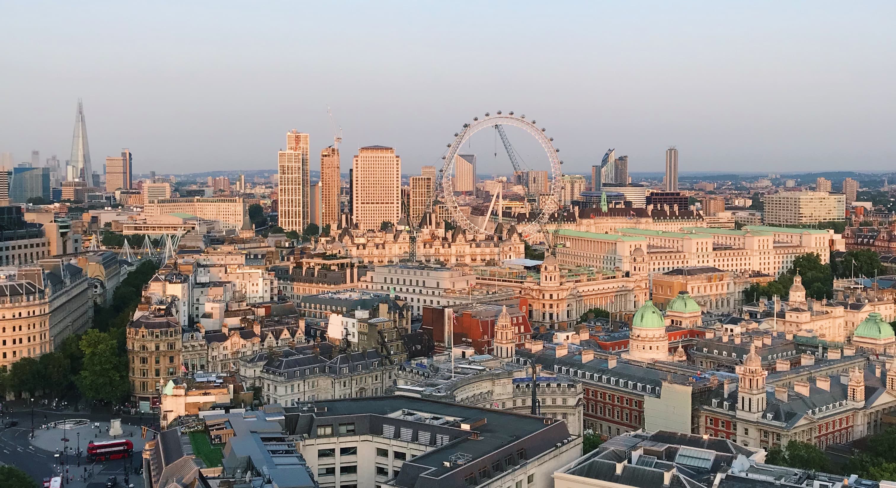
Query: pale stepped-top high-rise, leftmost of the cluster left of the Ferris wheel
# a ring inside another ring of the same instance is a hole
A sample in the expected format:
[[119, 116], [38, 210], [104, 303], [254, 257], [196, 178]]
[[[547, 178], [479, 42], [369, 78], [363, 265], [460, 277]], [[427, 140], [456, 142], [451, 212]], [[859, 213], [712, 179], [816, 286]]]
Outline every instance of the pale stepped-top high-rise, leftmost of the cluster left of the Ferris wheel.
[[311, 168], [309, 136], [293, 129], [286, 134], [286, 150], [279, 153], [279, 218], [284, 230], [299, 234], [311, 222]]

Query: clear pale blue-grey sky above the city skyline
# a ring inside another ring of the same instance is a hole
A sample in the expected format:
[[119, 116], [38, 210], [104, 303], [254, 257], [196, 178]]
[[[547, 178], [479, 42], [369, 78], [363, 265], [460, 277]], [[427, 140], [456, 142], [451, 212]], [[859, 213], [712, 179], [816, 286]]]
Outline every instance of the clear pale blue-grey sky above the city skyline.
[[[546, 127], [568, 174], [608, 148], [662, 171], [669, 145], [681, 171], [896, 169], [894, 2], [0, 0], [0, 17], [17, 161], [68, 159], [82, 98], [93, 167], [129, 148], [135, 173], [276, 168], [289, 129], [319, 169], [327, 107], [343, 172], [372, 144], [407, 174], [440, 164], [497, 110]], [[474, 138], [480, 174], [510, 170], [494, 133]]]

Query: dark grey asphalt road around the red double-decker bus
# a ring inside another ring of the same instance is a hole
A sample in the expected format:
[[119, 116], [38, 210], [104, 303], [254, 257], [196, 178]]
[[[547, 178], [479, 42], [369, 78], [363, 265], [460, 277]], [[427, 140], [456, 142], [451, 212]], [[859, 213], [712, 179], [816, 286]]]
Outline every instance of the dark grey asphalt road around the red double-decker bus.
[[[44, 415], [47, 416], [46, 421], [44, 420]], [[22, 408], [21, 411], [14, 411], [12, 414], [4, 413], [4, 421], [7, 417], [9, 417], [11, 420], [18, 421], [19, 424], [15, 427], [10, 428], [4, 428], [0, 426], [0, 463], [22, 469], [25, 473], [34, 478], [34, 480], [38, 482], [39, 486], [41, 485], [45, 477], [59, 475], [59, 473], [61, 473], [60, 468], [65, 469], [65, 467], [61, 467], [56, 464], [56, 452], [39, 449], [33, 446], [29, 440], [31, 432], [30, 409], [25, 410], [24, 408]], [[91, 415], [85, 414], [83, 412], [59, 413], [39, 410], [35, 410], [34, 412], [34, 423], [36, 429], [39, 429], [40, 425], [44, 424], [45, 422], [56, 422], [58, 420], [65, 420], [68, 418], [88, 418], [97, 422], [108, 422], [109, 415], [108, 413]], [[149, 421], [151, 417], [144, 418]], [[123, 422], [137, 424], [139, 423], [139, 418], [125, 417], [125, 420]], [[78, 467], [78, 458], [74, 456], [76, 447], [74, 439], [72, 440], [72, 442], [68, 442], [67, 446], [69, 448], [69, 474], [73, 475], [74, 481], [72, 483], [66, 482], [65, 485], [70, 486], [71, 488], [86, 488], [88, 483], [97, 482], [102, 482], [105, 485], [106, 478], [110, 475], [115, 475], [118, 478], [118, 485], [120, 488], [122, 488], [124, 486], [125, 470], [130, 471], [129, 467], [131, 466], [132, 461], [134, 463], [134, 467], [140, 466], [141, 463], [141, 453], [134, 452], [134, 458], [116, 459], [112, 461], [96, 463], [95, 466], [92, 467], [88, 465], [86, 459], [82, 457], [81, 467]], [[86, 447], [86, 442], [82, 441], [82, 451], [86, 449]], [[61, 451], [62, 449], [63, 446], [62, 443], [60, 443], [59, 450]], [[87, 467], [88, 472], [90, 472], [92, 468], [93, 475], [86, 481], [79, 481], [78, 477], [84, 474], [85, 466]], [[129, 484], [134, 485], [134, 488], [142, 488], [141, 475], [132, 474], [129, 476], [128, 481]]]

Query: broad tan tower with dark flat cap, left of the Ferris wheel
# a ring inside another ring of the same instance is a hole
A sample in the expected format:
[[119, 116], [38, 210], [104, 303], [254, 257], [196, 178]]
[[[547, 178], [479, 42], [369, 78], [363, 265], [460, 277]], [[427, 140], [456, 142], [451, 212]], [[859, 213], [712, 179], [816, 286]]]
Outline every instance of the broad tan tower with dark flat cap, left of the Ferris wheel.
[[401, 157], [385, 146], [367, 146], [352, 159], [352, 218], [361, 229], [379, 230], [401, 219]]

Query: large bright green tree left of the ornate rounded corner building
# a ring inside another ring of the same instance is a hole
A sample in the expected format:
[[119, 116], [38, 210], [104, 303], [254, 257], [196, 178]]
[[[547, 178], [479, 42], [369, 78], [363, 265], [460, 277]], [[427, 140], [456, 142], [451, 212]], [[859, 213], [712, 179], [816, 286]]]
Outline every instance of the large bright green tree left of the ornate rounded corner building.
[[90, 329], [81, 338], [84, 362], [78, 387], [90, 400], [119, 402], [128, 392], [127, 361], [119, 354], [116, 340]]

